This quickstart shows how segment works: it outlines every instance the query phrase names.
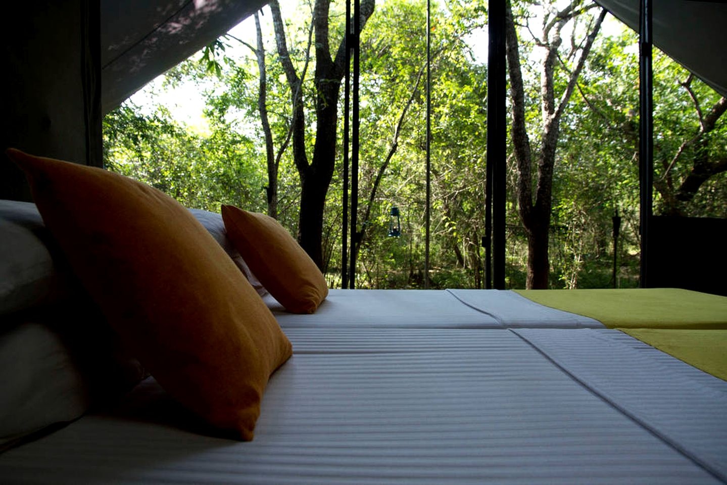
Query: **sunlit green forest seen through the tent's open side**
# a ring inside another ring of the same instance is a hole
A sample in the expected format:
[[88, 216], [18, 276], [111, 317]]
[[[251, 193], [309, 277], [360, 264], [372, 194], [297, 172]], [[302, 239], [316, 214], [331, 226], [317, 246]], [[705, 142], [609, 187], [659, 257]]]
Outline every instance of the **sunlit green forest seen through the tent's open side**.
[[[487, 2], [430, 8], [428, 285], [481, 288]], [[507, 287], [638, 286], [637, 36], [590, 1], [507, 13]], [[361, 1], [358, 288], [425, 285], [426, 17]], [[105, 116], [105, 166], [186, 207], [276, 217], [340, 287], [345, 2], [272, 0], [243, 27]], [[194, 124], [161, 103], [190, 86]], [[656, 215], [727, 217], [726, 110], [654, 49]]]

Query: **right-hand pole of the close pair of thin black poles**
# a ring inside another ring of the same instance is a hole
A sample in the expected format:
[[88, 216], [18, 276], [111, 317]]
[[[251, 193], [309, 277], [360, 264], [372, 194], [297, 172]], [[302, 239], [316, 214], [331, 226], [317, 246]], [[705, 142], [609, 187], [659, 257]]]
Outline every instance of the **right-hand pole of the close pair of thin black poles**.
[[361, 2], [353, 1], [353, 130], [351, 133], [351, 267], [348, 274], [349, 287], [356, 288], [356, 245], [358, 244], [358, 76], [359, 76], [359, 34], [361, 33]]

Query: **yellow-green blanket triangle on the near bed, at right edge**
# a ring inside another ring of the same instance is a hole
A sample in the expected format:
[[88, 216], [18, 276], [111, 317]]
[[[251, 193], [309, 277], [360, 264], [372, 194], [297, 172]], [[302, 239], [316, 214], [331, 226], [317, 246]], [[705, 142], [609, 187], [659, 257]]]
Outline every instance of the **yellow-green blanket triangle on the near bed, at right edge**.
[[697, 369], [727, 380], [727, 330], [619, 330]]

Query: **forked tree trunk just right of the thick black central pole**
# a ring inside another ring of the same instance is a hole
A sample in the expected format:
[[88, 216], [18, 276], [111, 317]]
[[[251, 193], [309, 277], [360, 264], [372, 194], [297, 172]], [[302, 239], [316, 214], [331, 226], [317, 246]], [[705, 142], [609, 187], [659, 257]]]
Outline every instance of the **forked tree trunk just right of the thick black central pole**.
[[[565, 53], [561, 52], [563, 46], [561, 34], [567, 23], [593, 7], [595, 4], [584, 7], [582, 0], [574, 0], [561, 10], [556, 9], [555, 5], [547, 5], [544, 8], [542, 33], [539, 37], [533, 36], [537, 47], [545, 52], [539, 65], [541, 126], [539, 146], [534, 154], [527, 127], [526, 97], [515, 17], [510, 3], [507, 4], [505, 46], [507, 69], [510, 74], [510, 93], [513, 98], [512, 136], [518, 167], [518, 212], [528, 237], [526, 285], [531, 289], [548, 287], [550, 274], [548, 239], [550, 213], [553, 208], [553, 169], [561, 117], [568, 106], [595, 36], [601, 28], [606, 10], [601, 9], [601, 14], [588, 25], [585, 41], [579, 42], [575, 39], [578, 29], [573, 27], [571, 43]], [[529, 25], [526, 26], [529, 29]], [[571, 66], [569, 63], [572, 60], [575, 60], [575, 63]], [[558, 89], [560, 93], [557, 96]], [[537, 177], [532, 174], [534, 165], [537, 166]], [[535, 191], [533, 191], [534, 184]]]

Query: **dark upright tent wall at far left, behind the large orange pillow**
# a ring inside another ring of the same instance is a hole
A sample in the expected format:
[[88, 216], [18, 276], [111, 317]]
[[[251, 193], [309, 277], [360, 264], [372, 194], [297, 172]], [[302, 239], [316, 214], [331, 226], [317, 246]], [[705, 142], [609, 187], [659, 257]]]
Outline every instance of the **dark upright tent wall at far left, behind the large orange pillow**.
[[[89, 0], [3, 5], [0, 148], [102, 164], [99, 9]], [[2, 153], [0, 199], [30, 200]]]

